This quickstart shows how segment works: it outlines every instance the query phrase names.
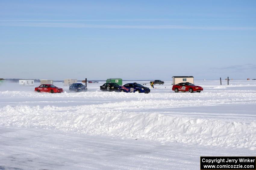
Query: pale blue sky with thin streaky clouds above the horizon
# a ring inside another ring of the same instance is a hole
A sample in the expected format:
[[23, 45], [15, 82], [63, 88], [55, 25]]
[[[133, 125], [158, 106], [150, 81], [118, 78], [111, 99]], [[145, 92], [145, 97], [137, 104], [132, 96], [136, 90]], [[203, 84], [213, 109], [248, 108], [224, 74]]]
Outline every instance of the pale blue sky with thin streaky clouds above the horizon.
[[256, 78], [256, 1], [0, 1], [0, 78]]

